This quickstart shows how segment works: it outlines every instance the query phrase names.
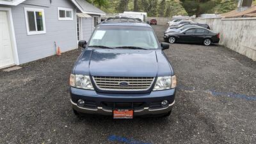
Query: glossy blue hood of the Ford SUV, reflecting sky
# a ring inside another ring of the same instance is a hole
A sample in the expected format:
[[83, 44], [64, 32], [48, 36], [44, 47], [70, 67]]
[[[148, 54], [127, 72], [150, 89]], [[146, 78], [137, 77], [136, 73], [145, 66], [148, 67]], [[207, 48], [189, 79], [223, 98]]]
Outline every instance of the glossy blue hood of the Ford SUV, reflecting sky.
[[113, 77], [170, 76], [173, 71], [161, 50], [86, 49], [74, 74]]

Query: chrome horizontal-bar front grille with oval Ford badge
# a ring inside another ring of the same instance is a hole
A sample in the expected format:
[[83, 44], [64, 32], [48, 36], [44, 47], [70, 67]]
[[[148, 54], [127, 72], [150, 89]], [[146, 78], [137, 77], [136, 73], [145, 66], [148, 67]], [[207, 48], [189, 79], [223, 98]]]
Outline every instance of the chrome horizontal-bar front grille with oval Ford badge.
[[[143, 91], [148, 90], [154, 82], [154, 77], [102, 77], [95, 76], [93, 80], [100, 90]], [[122, 86], [120, 83], [127, 83]]]

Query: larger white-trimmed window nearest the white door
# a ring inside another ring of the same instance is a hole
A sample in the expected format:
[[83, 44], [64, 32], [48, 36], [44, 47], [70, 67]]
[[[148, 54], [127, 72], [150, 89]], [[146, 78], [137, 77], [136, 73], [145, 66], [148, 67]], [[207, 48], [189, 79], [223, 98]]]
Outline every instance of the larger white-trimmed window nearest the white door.
[[28, 35], [46, 33], [44, 10], [38, 8], [24, 8]]

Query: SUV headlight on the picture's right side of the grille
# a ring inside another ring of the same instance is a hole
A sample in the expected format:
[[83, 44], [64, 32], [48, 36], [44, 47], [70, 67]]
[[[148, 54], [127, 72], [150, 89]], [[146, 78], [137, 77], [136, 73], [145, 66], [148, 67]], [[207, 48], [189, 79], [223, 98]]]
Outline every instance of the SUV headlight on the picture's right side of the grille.
[[154, 91], [156, 90], [168, 90], [176, 87], [176, 76], [165, 76], [157, 77], [156, 85]]

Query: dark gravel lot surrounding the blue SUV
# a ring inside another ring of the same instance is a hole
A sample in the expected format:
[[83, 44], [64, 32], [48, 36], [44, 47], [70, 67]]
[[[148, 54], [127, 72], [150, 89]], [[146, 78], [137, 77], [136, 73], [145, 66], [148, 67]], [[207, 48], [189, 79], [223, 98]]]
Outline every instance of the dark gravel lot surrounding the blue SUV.
[[[165, 26], [154, 26], [163, 41]], [[72, 113], [68, 76], [81, 51], [0, 71], [0, 143], [256, 143], [256, 62], [219, 45], [164, 51], [179, 87], [169, 118]]]

